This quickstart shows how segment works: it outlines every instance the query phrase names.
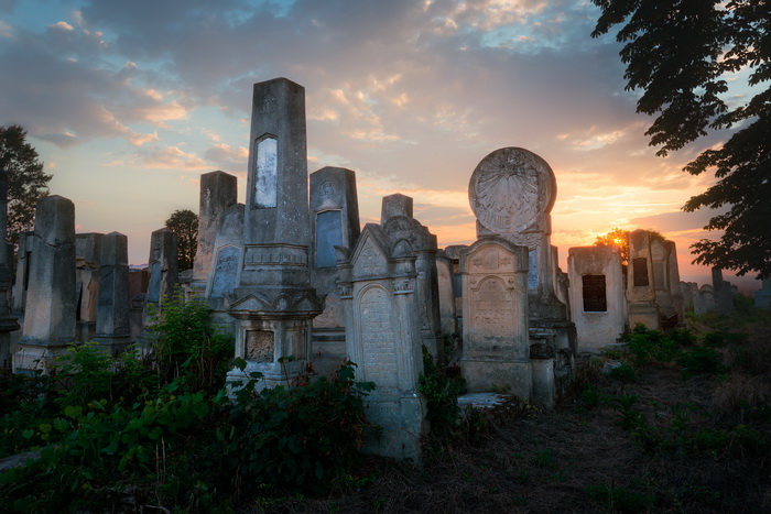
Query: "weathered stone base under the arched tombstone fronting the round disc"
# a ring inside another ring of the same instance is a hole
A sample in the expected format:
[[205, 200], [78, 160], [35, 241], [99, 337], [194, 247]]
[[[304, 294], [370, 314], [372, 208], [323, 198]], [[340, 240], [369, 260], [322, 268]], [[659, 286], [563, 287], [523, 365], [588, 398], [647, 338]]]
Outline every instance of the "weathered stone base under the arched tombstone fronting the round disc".
[[460, 359], [458, 362], [466, 389], [471, 393], [511, 392], [524, 401], [532, 397], [532, 365], [530, 361]]

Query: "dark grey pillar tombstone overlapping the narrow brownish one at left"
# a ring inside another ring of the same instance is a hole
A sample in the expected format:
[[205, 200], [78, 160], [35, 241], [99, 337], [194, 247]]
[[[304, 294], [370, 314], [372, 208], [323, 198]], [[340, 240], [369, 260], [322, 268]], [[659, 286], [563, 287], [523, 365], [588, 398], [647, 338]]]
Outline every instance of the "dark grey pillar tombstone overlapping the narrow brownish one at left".
[[101, 238], [99, 302], [94, 340], [116, 356], [131, 343], [129, 300], [129, 243], [122, 233]]

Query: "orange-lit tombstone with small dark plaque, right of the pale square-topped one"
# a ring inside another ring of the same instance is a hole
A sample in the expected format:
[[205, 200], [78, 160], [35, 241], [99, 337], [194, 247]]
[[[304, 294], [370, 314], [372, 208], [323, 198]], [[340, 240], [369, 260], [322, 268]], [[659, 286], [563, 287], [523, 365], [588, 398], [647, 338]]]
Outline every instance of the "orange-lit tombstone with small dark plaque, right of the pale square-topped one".
[[637, 324], [642, 324], [652, 330], [661, 328], [651, 241], [647, 230], [634, 230], [629, 234], [627, 308], [629, 328], [634, 328]]

